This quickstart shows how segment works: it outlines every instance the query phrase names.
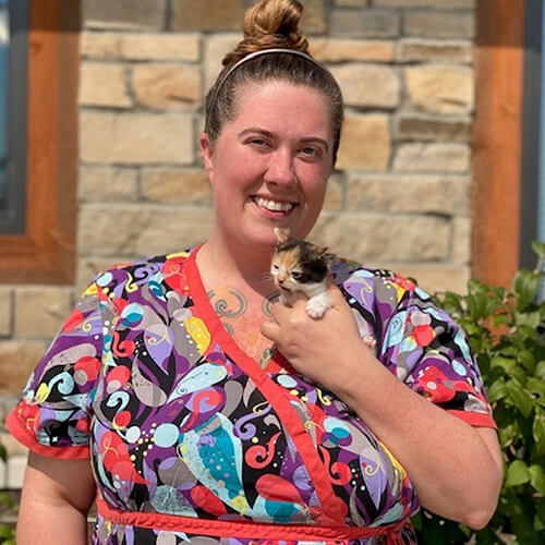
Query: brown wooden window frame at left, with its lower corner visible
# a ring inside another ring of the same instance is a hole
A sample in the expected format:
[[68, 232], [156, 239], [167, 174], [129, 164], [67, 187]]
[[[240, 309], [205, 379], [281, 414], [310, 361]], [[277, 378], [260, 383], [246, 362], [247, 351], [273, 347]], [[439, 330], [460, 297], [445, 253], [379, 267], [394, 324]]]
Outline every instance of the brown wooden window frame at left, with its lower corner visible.
[[73, 283], [81, 0], [29, 3], [24, 232], [0, 234], [0, 283]]

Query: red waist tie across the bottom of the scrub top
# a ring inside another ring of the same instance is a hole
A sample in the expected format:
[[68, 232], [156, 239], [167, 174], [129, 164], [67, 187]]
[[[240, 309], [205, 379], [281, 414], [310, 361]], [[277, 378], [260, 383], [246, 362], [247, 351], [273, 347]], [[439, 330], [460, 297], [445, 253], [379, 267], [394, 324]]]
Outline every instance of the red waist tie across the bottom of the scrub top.
[[197, 519], [178, 514], [143, 511], [121, 511], [97, 498], [98, 513], [107, 521], [150, 530], [195, 533], [215, 537], [245, 537], [276, 541], [347, 541], [385, 535], [388, 545], [402, 543], [399, 531], [409, 523], [403, 519], [395, 524], [376, 528], [318, 526], [311, 524], [272, 524], [265, 522]]

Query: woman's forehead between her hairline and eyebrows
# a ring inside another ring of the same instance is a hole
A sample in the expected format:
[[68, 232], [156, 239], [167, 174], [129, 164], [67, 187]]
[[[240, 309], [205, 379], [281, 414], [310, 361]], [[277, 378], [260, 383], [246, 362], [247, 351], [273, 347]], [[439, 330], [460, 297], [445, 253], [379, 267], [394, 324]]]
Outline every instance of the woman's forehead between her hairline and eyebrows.
[[327, 98], [312, 87], [283, 81], [246, 84], [237, 90], [229, 124], [243, 130], [261, 126], [303, 136], [330, 138], [331, 112]]

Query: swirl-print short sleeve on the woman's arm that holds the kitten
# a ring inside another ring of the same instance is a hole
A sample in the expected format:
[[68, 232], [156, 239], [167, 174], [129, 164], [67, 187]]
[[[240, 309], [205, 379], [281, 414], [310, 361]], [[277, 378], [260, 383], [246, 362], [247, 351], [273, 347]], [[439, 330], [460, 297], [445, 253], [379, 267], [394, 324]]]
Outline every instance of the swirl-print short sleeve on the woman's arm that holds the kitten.
[[496, 428], [462, 328], [412, 282], [391, 281], [398, 304], [386, 324], [380, 360], [438, 407], [473, 426]]

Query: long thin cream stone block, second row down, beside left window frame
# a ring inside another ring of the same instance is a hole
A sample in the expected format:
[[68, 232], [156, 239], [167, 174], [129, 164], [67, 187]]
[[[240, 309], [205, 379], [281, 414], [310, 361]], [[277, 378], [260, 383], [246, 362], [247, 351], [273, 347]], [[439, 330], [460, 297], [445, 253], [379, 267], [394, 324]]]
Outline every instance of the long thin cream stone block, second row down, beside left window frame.
[[84, 58], [131, 61], [189, 61], [199, 59], [198, 34], [111, 33], [85, 31], [80, 51]]

